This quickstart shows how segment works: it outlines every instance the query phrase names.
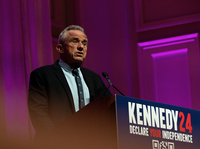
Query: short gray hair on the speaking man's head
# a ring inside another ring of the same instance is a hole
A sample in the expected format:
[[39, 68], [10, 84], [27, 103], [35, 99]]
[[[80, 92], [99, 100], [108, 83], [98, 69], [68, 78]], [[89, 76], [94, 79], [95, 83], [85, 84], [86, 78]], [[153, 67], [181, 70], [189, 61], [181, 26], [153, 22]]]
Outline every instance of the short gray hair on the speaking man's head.
[[66, 27], [60, 33], [60, 35], [58, 37], [58, 44], [62, 44], [62, 45], [65, 44], [66, 39], [67, 39], [67, 31], [69, 31], [69, 30], [79, 30], [79, 31], [81, 31], [81, 32], [83, 32], [85, 34], [84, 29], [82, 27], [80, 27], [78, 25], [70, 25], [70, 26]]

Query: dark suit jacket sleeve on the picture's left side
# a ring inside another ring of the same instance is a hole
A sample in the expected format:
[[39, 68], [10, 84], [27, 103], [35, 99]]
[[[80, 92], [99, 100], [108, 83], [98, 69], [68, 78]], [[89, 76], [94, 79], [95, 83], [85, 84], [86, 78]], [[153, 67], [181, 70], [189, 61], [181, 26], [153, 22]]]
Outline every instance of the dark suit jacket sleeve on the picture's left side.
[[48, 111], [48, 93], [44, 77], [37, 71], [30, 75], [28, 108], [36, 132], [45, 133], [53, 128]]

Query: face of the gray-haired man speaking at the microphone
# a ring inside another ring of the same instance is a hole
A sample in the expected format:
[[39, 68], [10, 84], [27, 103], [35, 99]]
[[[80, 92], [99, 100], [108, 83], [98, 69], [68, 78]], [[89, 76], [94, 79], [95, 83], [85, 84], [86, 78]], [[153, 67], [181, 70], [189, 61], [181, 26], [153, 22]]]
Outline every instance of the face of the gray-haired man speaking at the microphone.
[[62, 46], [62, 59], [71, 67], [80, 67], [87, 55], [88, 40], [86, 35], [79, 30], [67, 32], [67, 41]]

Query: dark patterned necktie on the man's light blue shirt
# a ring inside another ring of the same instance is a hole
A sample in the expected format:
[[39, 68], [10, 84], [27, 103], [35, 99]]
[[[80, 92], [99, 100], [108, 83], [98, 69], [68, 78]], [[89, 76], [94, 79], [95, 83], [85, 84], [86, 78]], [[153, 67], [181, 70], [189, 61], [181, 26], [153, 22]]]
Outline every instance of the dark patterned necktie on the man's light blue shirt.
[[77, 85], [77, 89], [78, 89], [78, 97], [79, 97], [79, 109], [81, 109], [85, 106], [84, 95], [83, 95], [83, 86], [81, 83], [81, 78], [79, 76], [78, 70], [73, 69], [72, 73], [74, 74], [74, 77], [76, 80], [76, 85]]

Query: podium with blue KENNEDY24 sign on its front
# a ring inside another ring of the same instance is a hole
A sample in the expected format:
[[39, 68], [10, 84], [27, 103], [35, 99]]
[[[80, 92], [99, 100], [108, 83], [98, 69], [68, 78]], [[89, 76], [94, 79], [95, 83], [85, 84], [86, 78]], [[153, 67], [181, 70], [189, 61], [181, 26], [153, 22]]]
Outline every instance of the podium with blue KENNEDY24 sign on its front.
[[42, 145], [48, 149], [199, 149], [200, 111], [120, 95], [103, 97], [56, 126]]

